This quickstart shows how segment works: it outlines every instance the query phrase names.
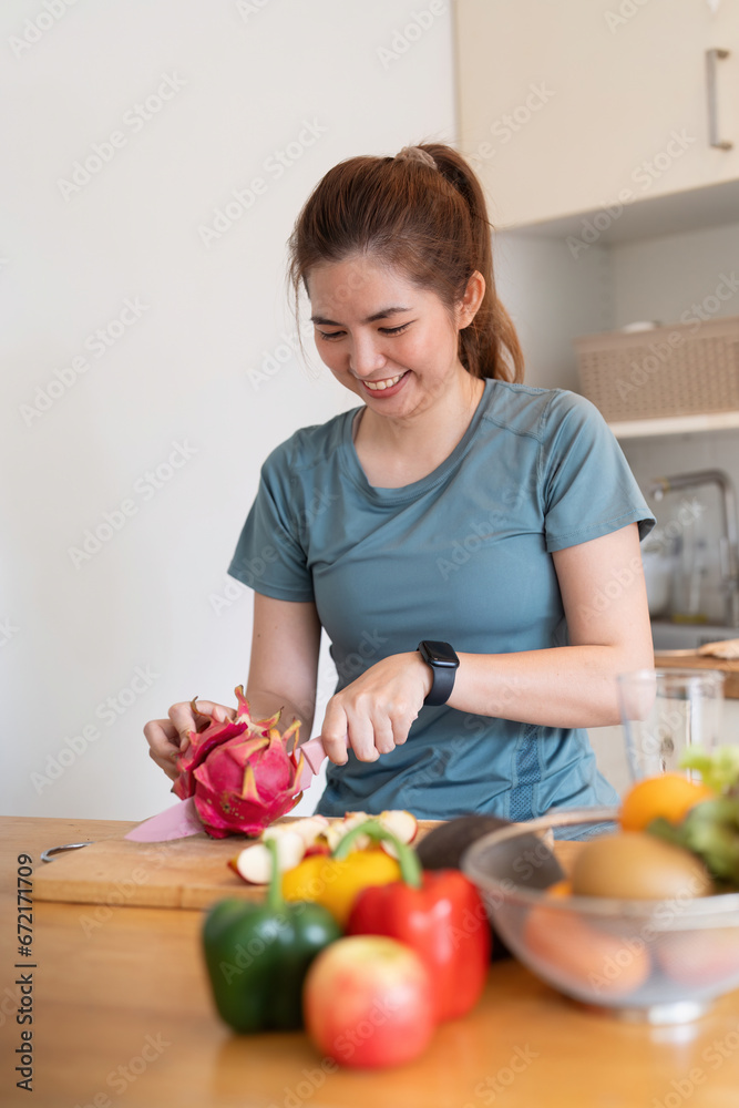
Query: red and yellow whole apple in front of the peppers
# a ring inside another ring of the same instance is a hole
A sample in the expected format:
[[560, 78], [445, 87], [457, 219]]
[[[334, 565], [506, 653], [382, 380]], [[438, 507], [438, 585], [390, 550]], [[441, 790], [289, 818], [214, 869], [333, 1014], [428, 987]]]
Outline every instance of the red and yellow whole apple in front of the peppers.
[[302, 1006], [316, 1047], [343, 1066], [400, 1066], [434, 1030], [432, 985], [418, 954], [394, 938], [331, 943], [308, 971]]

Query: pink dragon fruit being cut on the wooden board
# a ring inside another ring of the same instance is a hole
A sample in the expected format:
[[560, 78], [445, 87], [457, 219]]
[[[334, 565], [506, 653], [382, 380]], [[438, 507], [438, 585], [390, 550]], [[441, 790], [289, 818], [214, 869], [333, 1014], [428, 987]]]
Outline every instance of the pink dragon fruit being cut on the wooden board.
[[242, 685], [236, 699], [236, 717], [191, 731], [189, 746], [177, 759], [179, 777], [173, 791], [181, 800], [195, 797], [197, 813], [214, 839], [258, 835], [300, 799], [300, 724], [295, 720], [280, 735], [275, 726], [279, 712], [253, 720]]

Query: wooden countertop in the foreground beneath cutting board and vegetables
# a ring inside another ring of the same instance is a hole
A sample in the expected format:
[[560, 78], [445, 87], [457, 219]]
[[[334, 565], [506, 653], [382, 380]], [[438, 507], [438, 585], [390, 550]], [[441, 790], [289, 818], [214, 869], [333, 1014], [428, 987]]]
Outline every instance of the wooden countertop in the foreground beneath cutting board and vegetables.
[[[593, 1015], [514, 962], [464, 1019], [396, 1070], [327, 1073], [306, 1036], [235, 1036], [211, 1004], [202, 913], [37, 903], [17, 954], [17, 858], [133, 823], [0, 818], [0, 1089], [34, 1108], [737, 1108], [739, 993], [677, 1028]], [[50, 863], [53, 864], [53, 863]], [[31, 1097], [16, 1088], [17, 962], [33, 970]], [[95, 1099], [96, 1098], [96, 1099]]]

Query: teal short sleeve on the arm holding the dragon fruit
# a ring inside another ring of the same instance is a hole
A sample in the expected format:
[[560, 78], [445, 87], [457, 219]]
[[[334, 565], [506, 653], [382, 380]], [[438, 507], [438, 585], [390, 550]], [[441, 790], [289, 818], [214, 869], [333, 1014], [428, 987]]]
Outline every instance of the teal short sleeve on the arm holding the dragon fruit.
[[228, 573], [256, 593], [278, 601], [312, 601], [314, 588], [300, 542], [297, 482], [286, 444], [261, 468], [259, 489], [242, 530]]

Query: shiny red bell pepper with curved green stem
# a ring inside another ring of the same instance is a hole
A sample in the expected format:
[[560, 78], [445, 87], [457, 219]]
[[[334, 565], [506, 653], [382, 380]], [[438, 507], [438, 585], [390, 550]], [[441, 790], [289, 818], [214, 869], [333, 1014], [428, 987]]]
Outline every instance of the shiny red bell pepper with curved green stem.
[[335, 856], [348, 853], [361, 834], [394, 843], [401, 880], [362, 890], [347, 934], [407, 943], [431, 974], [437, 1022], [465, 1015], [480, 999], [490, 965], [492, 934], [480, 893], [459, 870], [422, 871], [415, 851], [376, 822], [346, 835]]

